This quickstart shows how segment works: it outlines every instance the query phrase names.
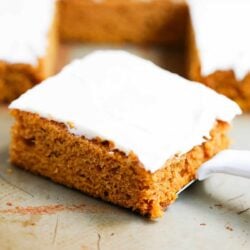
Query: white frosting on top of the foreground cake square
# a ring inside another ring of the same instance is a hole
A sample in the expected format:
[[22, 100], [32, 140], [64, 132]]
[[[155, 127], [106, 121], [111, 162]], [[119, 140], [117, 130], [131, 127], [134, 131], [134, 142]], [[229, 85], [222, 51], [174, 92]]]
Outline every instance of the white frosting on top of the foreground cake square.
[[241, 113], [204, 85], [123, 51], [74, 61], [10, 108], [73, 123], [68, 129], [75, 135], [112, 140], [126, 153], [133, 150], [151, 172], [203, 143], [217, 119], [230, 122]]

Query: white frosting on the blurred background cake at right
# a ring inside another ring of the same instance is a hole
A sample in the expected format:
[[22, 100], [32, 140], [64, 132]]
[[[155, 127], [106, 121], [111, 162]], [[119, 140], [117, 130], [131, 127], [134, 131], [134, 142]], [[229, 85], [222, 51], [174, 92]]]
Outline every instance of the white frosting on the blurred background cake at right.
[[233, 70], [250, 73], [250, 1], [188, 0], [202, 75]]

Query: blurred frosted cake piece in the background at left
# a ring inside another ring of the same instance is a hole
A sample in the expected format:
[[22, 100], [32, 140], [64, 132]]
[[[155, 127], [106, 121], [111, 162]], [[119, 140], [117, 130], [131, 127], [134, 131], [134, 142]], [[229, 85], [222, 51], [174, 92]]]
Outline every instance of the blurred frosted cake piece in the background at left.
[[10, 102], [53, 72], [54, 0], [0, 1], [0, 102]]

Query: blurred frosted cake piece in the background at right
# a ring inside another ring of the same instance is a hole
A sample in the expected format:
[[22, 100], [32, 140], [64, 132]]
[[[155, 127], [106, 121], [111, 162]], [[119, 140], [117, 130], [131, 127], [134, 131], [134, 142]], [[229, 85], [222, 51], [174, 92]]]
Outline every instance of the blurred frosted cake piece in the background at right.
[[250, 111], [250, 2], [189, 0], [188, 75]]

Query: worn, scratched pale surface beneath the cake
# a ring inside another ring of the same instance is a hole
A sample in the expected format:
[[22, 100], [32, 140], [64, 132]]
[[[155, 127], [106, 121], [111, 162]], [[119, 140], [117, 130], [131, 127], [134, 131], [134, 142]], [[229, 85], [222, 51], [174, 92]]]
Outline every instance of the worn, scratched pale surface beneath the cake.
[[[250, 249], [249, 180], [220, 174], [196, 182], [162, 219], [150, 222], [10, 166], [11, 123], [1, 107], [0, 249]], [[235, 120], [231, 137], [232, 148], [250, 150], [250, 115]]]

